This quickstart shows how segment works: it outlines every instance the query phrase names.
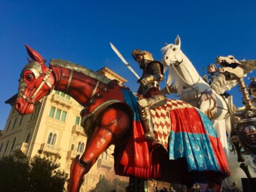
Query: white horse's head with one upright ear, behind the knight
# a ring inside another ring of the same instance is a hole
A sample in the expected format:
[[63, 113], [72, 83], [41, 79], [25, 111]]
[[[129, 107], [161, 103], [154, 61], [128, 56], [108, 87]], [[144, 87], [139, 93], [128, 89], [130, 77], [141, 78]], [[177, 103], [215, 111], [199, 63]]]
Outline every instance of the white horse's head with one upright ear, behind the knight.
[[175, 39], [175, 44], [166, 44], [165, 47], [162, 47], [161, 50], [162, 54], [164, 55], [162, 57], [162, 63], [164, 63], [164, 65], [178, 66], [180, 65], [180, 63], [182, 63], [184, 54], [182, 50], [180, 50], [180, 45], [180, 37], [177, 36], [177, 38]]

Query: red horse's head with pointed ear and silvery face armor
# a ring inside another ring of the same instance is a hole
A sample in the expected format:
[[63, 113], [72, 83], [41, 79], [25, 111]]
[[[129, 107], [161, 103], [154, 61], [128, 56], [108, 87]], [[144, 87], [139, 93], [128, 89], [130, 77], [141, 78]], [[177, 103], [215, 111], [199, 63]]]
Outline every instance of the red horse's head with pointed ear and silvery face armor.
[[52, 71], [44, 64], [46, 60], [38, 52], [25, 45], [28, 55], [33, 60], [23, 68], [20, 74], [18, 97], [15, 108], [20, 114], [34, 111], [34, 103], [50, 93], [55, 79]]

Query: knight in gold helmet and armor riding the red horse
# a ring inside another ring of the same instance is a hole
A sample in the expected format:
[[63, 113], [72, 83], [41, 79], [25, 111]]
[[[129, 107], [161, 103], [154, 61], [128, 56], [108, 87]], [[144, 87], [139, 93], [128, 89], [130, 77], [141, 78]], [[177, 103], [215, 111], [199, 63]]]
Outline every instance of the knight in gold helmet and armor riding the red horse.
[[138, 80], [140, 87], [137, 94], [145, 97], [138, 100], [138, 108], [140, 109], [140, 116], [145, 130], [145, 139], [155, 142], [156, 138], [154, 138], [150, 109], [165, 105], [167, 102], [166, 95], [159, 89], [159, 81], [163, 79], [164, 66], [161, 62], [153, 60], [152, 54], [146, 50], [134, 49], [132, 57], [143, 70], [142, 78]]

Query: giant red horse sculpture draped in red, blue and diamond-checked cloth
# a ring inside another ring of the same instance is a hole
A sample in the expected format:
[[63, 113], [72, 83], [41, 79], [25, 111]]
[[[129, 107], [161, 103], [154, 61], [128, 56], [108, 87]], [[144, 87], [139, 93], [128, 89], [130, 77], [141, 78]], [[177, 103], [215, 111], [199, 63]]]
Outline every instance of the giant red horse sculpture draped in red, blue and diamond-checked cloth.
[[38, 52], [28, 46], [26, 49], [33, 60], [20, 76], [15, 103], [20, 114], [33, 113], [34, 103], [53, 89], [65, 92], [84, 106], [82, 117], [88, 140], [81, 158], [77, 156], [71, 164], [69, 191], [79, 191], [84, 174], [112, 144], [116, 146], [116, 174], [187, 186], [204, 182], [209, 183], [209, 188], [220, 190], [222, 180], [229, 175], [225, 154], [209, 119], [196, 108], [169, 100], [159, 110], [166, 114], [159, 113], [159, 125], [164, 126], [162, 119], [169, 118], [167, 127], [171, 129], [167, 134], [156, 130], [159, 143], [151, 145], [143, 137], [138, 98], [128, 88], [64, 60], [51, 60], [48, 68]]

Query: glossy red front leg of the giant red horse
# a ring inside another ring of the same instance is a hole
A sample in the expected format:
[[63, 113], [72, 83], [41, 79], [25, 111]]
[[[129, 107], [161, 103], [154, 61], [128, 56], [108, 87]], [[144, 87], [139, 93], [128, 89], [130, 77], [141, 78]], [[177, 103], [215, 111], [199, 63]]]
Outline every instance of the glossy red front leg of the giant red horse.
[[71, 164], [68, 191], [79, 191], [84, 174], [89, 172], [98, 156], [118, 138], [122, 137], [128, 129], [129, 116], [124, 111], [110, 108], [103, 112], [95, 127], [94, 134], [87, 141], [86, 150], [81, 159], [76, 156]]

